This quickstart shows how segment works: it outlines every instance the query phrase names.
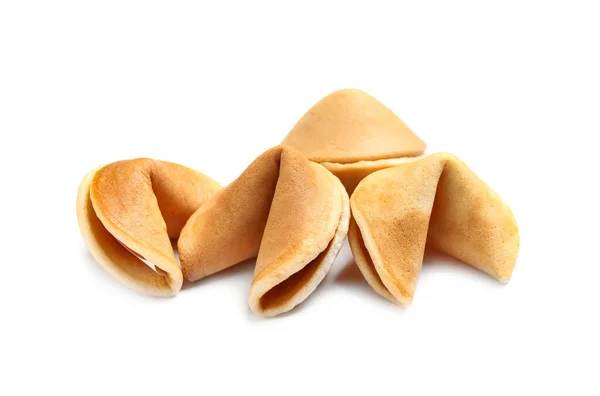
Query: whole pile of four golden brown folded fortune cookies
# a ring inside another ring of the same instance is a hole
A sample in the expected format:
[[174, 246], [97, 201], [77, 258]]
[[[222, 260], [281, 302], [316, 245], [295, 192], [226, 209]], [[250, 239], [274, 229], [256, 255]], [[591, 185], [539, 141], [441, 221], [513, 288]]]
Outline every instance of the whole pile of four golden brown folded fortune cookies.
[[147, 158], [90, 171], [79, 228], [102, 268], [152, 296], [256, 258], [248, 303], [260, 316], [308, 298], [346, 236], [368, 284], [400, 305], [426, 247], [508, 282], [519, 251], [510, 208], [460, 159], [425, 148], [375, 98], [340, 90], [225, 187]]

